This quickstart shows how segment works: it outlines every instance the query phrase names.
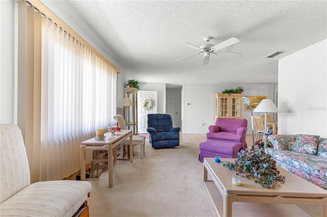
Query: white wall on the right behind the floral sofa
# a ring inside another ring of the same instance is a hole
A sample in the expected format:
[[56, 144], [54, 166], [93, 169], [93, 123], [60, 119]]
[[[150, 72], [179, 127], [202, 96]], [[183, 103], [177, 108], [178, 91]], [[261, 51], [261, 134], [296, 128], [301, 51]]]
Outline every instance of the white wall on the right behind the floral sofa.
[[327, 39], [279, 60], [278, 134], [327, 138]]

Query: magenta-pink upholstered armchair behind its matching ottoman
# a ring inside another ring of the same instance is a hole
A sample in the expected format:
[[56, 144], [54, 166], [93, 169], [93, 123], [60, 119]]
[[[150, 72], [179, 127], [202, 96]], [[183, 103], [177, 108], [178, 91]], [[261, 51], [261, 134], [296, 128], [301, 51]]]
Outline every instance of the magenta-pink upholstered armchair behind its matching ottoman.
[[247, 148], [245, 137], [247, 120], [236, 118], [217, 118], [216, 124], [209, 126], [207, 140], [237, 143], [240, 150]]

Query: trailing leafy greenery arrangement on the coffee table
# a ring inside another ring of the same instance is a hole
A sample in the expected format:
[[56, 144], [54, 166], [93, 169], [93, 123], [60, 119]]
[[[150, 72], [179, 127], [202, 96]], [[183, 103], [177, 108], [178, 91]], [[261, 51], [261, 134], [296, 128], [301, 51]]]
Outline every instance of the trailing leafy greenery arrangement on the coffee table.
[[[229, 170], [235, 170], [236, 175], [241, 174], [242, 177], [245, 176], [246, 172], [252, 174], [254, 182], [266, 188], [275, 188], [273, 181], [285, 182], [285, 177], [279, 175], [276, 161], [258, 145], [241, 150], [234, 164], [223, 161], [223, 166]], [[247, 175], [246, 178], [250, 179]]]

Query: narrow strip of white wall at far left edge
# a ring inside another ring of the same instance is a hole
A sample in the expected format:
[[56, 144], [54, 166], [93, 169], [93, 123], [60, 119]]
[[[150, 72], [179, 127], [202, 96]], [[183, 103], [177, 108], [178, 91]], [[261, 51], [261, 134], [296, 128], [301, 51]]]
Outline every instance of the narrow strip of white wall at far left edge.
[[17, 124], [15, 8], [17, 8], [17, 3], [14, 1], [0, 1], [0, 123]]

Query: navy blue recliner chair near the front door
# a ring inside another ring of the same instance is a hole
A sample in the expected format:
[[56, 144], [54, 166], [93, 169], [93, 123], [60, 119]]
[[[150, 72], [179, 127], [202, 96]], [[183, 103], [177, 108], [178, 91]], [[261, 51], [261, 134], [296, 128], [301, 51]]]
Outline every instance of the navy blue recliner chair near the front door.
[[153, 148], [179, 146], [179, 130], [179, 127], [173, 127], [170, 115], [148, 114], [147, 131]]

